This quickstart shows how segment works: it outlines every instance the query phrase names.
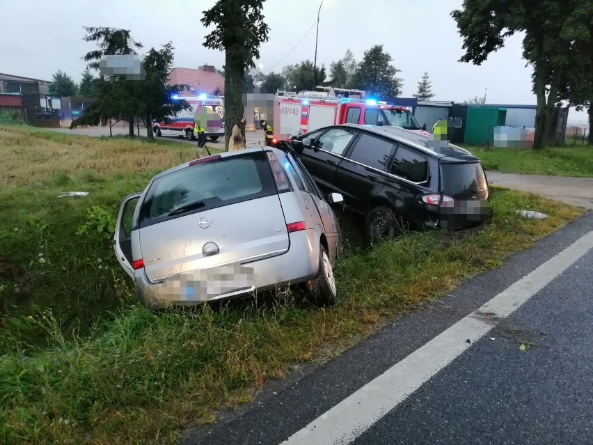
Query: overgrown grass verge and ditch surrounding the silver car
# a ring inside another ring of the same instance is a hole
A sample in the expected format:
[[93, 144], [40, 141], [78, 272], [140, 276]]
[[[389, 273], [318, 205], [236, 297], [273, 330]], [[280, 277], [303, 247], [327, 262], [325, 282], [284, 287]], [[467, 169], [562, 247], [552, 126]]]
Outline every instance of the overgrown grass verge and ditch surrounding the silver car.
[[[484, 226], [409, 233], [372, 249], [361, 247], [356, 221], [342, 215], [347, 255], [336, 269], [340, 302], [331, 309], [258, 295], [151, 313], [136, 304], [113, 257], [113, 217], [122, 196], [141, 189], [154, 171], [194, 157], [195, 149], [53, 132], [29, 139], [21, 131], [0, 128], [0, 141], [19, 135], [0, 145], [0, 156], [21, 150], [31, 159], [35, 150], [42, 156], [61, 149], [71, 155], [57, 164], [45, 157], [31, 182], [22, 172], [0, 189], [2, 444], [173, 443], [180, 428], [249, 400], [268, 378], [326, 359], [329, 350], [498, 267], [581, 213], [497, 188], [493, 219]], [[90, 194], [56, 197], [79, 189]], [[515, 210], [524, 208], [548, 218], [522, 219]]]

